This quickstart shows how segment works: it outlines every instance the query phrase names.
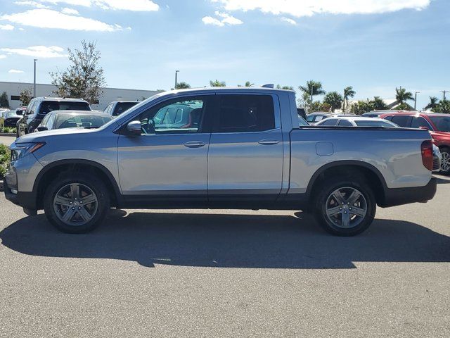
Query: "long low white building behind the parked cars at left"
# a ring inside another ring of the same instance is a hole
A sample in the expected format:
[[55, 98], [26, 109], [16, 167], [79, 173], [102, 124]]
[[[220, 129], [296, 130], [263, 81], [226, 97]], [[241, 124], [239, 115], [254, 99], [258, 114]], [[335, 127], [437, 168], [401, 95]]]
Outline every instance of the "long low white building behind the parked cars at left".
[[[20, 92], [23, 89], [30, 89], [33, 92], [33, 84], [26, 82], [1, 82], [0, 94], [6, 92], [8, 95], [9, 106], [11, 109], [21, 106]], [[53, 92], [56, 87], [53, 84], [36, 84], [36, 96], [55, 96]], [[139, 90], [139, 89], [119, 89], [119, 88], [103, 88], [103, 96], [98, 100], [98, 104], [91, 104], [92, 109], [101, 110], [106, 108], [111, 101], [116, 100], [137, 100], [142, 101], [150, 96], [157, 94], [156, 90]]]

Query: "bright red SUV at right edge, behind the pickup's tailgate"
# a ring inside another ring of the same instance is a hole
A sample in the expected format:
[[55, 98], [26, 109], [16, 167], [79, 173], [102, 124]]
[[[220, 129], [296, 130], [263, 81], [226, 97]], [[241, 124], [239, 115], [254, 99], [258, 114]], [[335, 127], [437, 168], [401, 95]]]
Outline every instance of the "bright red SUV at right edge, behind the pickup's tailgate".
[[450, 175], [450, 115], [439, 113], [420, 113], [413, 111], [393, 111], [380, 118], [390, 120], [400, 127], [430, 130], [433, 143], [442, 154], [441, 173]]

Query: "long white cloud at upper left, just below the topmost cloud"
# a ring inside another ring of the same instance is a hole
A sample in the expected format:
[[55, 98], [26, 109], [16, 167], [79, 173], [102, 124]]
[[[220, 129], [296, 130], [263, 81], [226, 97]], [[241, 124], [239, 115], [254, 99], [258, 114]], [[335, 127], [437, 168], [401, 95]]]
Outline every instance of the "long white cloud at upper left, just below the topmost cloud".
[[20, 23], [32, 27], [59, 28], [62, 30], [94, 30], [97, 32], [114, 32], [122, 30], [120, 25], [109, 25], [101, 21], [68, 15], [52, 9], [31, 9], [22, 13], [0, 16], [0, 20]]

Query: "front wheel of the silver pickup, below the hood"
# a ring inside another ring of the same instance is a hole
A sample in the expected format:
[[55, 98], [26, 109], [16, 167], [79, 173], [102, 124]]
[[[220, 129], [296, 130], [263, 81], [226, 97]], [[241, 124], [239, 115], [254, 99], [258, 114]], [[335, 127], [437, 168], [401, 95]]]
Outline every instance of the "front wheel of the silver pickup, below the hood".
[[110, 208], [105, 184], [94, 175], [65, 172], [46, 189], [44, 210], [58, 230], [80, 234], [94, 230]]

